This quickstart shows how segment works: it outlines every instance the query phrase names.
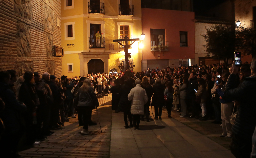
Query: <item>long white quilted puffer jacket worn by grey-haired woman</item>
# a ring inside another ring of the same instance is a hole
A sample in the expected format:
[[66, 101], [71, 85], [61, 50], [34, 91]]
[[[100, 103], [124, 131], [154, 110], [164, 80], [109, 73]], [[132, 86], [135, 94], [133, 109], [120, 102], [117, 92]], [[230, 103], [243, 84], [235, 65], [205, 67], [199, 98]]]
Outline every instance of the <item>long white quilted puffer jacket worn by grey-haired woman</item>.
[[144, 115], [144, 105], [148, 101], [146, 90], [140, 84], [136, 84], [128, 94], [128, 100], [132, 101], [131, 114]]

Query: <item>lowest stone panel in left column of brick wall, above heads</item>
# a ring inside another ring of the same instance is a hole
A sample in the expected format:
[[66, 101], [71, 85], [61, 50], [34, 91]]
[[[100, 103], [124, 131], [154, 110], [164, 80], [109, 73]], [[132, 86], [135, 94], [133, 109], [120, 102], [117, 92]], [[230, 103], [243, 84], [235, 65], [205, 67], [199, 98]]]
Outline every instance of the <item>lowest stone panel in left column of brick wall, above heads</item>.
[[18, 76], [22, 76], [25, 72], [33, 72], [33, 62], [16, 62], [15, 70]]

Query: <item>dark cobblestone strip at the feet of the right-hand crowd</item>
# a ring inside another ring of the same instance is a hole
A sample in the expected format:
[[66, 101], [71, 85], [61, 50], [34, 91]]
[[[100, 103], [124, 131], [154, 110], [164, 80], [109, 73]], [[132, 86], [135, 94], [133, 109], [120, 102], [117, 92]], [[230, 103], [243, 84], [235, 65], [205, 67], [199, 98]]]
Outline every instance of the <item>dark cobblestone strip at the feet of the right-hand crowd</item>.
[[[163, 108], [163, 113], [167, 114], [166, 108]], [[171, 116], [176, 120], [178, 120], [179, 122], [190, 127], [191, 129], [201, 133], [202, 135], [208, 137], [214, 142], [230, 150], [229, 144], [232, 138], [220, 137], [219, 135], [222, 134], [222, 126], [220, 126], [220, 124], [211, 123], [214, 120], [199, 121], [198, 119], [195, 119], [195, 118], [189, 118], [189, 117], [182, 118], [180, 117], [179, 112], [174, 110], [172, 110]]]

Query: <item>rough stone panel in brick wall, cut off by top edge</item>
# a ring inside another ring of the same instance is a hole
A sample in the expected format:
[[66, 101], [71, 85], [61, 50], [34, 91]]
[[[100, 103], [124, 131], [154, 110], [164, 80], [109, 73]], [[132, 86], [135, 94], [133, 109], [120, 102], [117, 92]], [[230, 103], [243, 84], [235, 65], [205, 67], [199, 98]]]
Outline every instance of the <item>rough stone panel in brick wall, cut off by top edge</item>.
[[32, 1], [14, 0], [14, 14], [32, 20]]

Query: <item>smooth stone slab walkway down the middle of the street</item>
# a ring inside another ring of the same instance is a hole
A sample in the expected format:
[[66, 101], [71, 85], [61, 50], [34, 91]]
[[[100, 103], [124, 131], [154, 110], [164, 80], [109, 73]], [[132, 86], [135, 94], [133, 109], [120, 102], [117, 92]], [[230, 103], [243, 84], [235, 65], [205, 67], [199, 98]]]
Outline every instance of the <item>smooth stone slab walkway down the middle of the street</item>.
[[234, 158], [229, 150], [202, 133], [168, 118], [165, 110], [162, 120], [152, 118], [151, 112], [150, 122], [141, 121], [140, 130], [125, 129], [123, 113], [113, 113], [110, 158]]

